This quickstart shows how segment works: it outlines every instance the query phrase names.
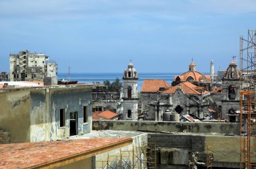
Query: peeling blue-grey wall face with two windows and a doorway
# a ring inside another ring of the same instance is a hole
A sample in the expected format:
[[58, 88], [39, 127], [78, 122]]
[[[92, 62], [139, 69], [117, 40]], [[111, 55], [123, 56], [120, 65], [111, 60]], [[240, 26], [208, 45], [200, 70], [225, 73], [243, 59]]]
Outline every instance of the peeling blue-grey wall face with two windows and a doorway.
[[[77, 134], [90, 133], [92, 129], [92, 92], [90, 88], [53, 88], [51, 97], [51, 139], [69, 137], [70, 112], [77, 112]], [[88, 123], [84, 123], [84, 106], [88, 106]], [[60, 109], [66, 110], [66, 125], [60, 127]]]

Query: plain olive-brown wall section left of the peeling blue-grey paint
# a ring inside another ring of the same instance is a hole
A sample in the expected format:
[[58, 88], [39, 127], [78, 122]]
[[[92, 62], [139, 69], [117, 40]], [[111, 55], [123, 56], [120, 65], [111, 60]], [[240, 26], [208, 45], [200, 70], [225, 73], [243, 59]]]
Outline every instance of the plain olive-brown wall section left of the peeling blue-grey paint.
[[0, 93], [0, 129], [11, 132], [11, 143], [30, 141], [30, 91]]

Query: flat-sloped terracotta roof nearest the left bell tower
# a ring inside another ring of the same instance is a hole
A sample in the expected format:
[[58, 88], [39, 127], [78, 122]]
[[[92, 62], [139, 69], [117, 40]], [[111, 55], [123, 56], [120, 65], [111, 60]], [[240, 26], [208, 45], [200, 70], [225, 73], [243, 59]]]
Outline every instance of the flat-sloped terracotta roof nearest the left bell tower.
[[141, 92], [158, 92], [159, 88], [168, 88], [170, 85], [163, 79], [144, 79]]

